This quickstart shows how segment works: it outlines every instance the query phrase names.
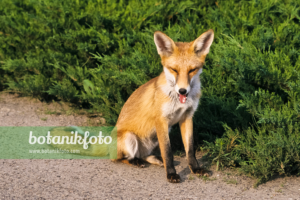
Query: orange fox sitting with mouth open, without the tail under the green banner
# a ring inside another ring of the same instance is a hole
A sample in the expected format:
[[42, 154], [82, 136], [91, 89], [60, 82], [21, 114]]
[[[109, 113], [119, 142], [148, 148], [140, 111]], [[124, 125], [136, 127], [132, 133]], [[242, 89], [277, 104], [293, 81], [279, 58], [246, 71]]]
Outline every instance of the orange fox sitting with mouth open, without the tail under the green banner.
[[[192, 117], [201, 96], [199, 74], [213, 39], [212, 29], [189, 43], [154, 33], [164, 71], [140, 86], [124, 104], [116, 124], [117, 161], [138, 168], [145, 166], [144, 161], [164, 166], [167, 180], [179, 183], [169, 139], [171, 126], [179, 122], [190, 170], [209, 176], [196, 160]], [[150, 155], [158, 145], [161, 157]]]

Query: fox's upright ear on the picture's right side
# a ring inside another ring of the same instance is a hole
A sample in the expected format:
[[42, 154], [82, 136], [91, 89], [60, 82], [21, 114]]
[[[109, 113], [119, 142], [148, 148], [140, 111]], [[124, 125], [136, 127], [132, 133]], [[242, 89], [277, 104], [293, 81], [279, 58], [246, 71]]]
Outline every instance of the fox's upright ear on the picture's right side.
[[202, 33], [196, 40], [194, 40], [194, 51], [198, 56], [206, 55], [209, 52], [209, 47], [214, 40], [214, 30], [209, 29]]

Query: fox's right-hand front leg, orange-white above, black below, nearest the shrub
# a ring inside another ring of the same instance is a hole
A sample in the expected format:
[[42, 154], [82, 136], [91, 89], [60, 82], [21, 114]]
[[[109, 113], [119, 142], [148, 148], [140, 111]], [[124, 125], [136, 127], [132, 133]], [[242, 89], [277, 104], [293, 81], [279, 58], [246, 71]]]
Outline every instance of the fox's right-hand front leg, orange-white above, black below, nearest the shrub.
[[182, 135], [182, 141], [184, 149], [187, 154], [187, 161], [190, 171], [199, 176], [208, 177], [209, 174], [205, 169], [200, 168], [196, 159], [194, 151], [194, 138], [193, 138], [193, 120], [192, 117], [187, 117], [179, 122], [180, 131]]

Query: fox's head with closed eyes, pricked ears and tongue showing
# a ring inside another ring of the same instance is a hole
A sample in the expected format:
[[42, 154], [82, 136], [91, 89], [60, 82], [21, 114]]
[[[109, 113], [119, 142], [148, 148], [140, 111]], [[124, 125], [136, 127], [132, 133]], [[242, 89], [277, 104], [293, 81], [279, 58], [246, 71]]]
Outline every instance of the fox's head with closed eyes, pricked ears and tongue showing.
[[163, 32], [154, 33], [167, 83], [174, 87], [181, 103], [186, 101], [194, 86], [200, 85], [199, 75], [213, 39], [213, 29], [202, 33], [192, 42], [174, 42]]

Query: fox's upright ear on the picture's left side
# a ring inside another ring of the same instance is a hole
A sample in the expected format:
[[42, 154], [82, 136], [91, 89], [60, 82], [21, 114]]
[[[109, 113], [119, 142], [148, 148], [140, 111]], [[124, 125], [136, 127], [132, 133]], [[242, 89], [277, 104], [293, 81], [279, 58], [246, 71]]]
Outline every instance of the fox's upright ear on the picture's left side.
[[163, 32], [155, 31], [154, 42], [157, 48], [157, 52], [160, 56], [170, 56], [173, 53], [175, 43]]

